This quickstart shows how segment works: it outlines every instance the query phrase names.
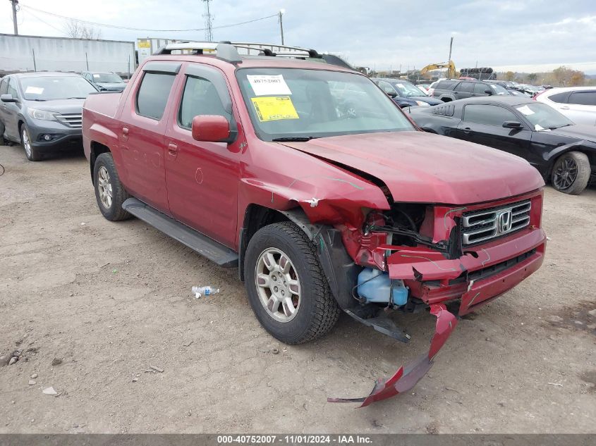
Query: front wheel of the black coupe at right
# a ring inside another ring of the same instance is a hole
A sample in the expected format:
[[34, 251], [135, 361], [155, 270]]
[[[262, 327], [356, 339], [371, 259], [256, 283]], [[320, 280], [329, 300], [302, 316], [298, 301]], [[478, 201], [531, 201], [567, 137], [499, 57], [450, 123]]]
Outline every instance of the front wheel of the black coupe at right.
[[559, 192], [579, 195], [590, 181], [590, 160], [580, 151], [568, 151], [552, 166], [551, 182]]

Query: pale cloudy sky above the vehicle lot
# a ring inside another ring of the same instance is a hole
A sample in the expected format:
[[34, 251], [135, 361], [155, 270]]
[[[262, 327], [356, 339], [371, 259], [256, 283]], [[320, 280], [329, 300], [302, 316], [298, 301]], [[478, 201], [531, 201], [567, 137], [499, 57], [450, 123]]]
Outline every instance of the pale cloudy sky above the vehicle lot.
[[[66, 36], [61, 16], [124, 27], [205, 27], [201, 0], [20, 0], [19, 33]], [[595, 0], [212, 0], [214, 40], [281, 43], [283, 9], [288, 45], [341, 54], [376, 70], [422, 68], [446, 61], [454, 37], [456, 68], [539, 72], [565, 65], [596, 74]], [[157, 32], [97, 27], [103, 39], [138, 37], [204, 40], [204, 31]], [[11, 4], [0, 0], [0, 32], [13, 32]]]

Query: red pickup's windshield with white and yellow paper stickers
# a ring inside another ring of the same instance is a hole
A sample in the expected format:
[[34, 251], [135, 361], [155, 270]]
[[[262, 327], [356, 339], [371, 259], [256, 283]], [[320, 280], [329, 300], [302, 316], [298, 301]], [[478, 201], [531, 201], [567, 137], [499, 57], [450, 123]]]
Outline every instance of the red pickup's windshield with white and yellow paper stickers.
[[414, 130], [394, 101], [363, 75], [244, 68], [236, 77], [262, 140]]

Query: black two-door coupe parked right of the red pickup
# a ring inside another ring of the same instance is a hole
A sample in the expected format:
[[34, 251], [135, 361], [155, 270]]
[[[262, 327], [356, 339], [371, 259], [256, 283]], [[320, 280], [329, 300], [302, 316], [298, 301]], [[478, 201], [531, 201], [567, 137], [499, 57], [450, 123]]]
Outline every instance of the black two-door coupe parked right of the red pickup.
[[427, 132], [521, 156], [566, 194], [580, 194], [596, 179], [596, 129], [532, 99], [478, 97], [409, 113]]

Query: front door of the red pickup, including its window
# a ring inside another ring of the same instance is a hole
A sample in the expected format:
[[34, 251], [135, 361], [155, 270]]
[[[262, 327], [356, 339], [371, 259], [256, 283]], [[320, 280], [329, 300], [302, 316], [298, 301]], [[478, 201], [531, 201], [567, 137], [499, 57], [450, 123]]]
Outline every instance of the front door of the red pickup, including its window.
[[193, 139], [195, 116], [220, 115], [236, 126], [224, 75], [216, 68], [188, 64], [166, 130], [166, 189], [170, 211], [217, 242], [233, 247], [238, 226], [241, 135], [236, 141]]

